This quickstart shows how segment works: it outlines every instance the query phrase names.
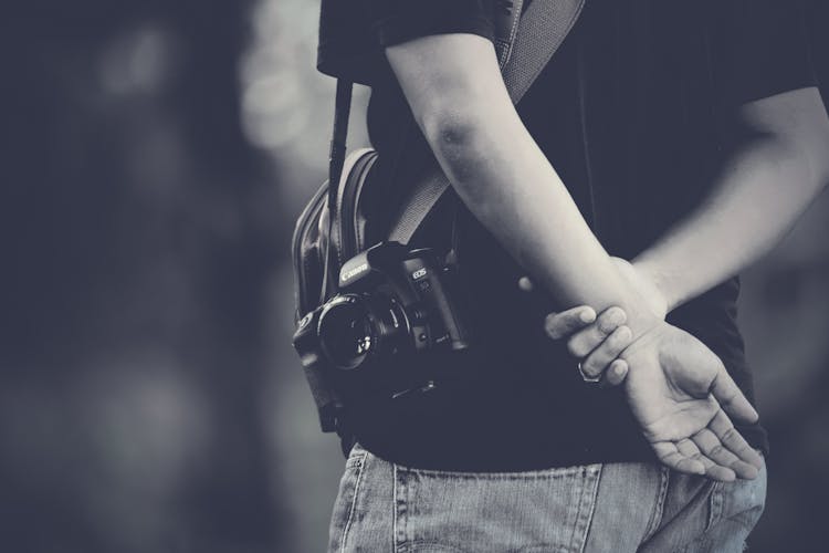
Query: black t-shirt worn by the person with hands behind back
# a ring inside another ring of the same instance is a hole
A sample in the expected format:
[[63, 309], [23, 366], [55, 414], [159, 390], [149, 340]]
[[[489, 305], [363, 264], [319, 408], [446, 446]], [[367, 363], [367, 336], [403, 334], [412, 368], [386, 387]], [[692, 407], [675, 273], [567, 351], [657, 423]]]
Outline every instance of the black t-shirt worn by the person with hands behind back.
[[[382, 48], [449, 32], [492, 40], [495, 4], [324, 0], [319, 69], [350, 72], [371, 85], [368, 127], [380, 153], [377, 186], [388, 188], [387, 198], [431, 154]], [[727, 124], [736, 106], [814, 84], [795, 6], [587, 1], [518, 113], [611, 254], [634, 257], [700, 204], [734, 146], [725, 137], [739, 135]], [[469, 319], [476, 342], [470, 352], [430, 363], [463, 377], [356, 417], [358, 439], [396, 462], [444, 470], [653, 459], [622, 392], [583, 383], [563, 344], [544, 335], [544, 315], [559, 309], [553, 299], [521, 292], [522, 269], [460, 210], [462, 278], [474, 299]], [[445, 231], [436, 228], [436, 234]], [[735, 322], [738, 289], [736, 279], [725, 282], [669, 321], [720, 355], [753, 398]], [[741, 430], [754, 446], [767, 447], [762, 427]]]

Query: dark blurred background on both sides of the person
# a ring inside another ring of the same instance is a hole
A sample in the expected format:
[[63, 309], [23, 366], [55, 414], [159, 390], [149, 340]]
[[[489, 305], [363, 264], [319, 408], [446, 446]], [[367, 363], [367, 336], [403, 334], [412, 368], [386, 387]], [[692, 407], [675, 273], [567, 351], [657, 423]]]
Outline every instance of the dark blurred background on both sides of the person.
[[[826, 4], [810, 21], [829, 85]], [[291, 348], [288, 255], [325, 176], [317, 12], [32, 0], [3, 17], [0, 551], [324, 550], [343, 459]], [[825, 194], [745, 278], [774, 447], [754, 551], [821, 550], [827, 237]]]

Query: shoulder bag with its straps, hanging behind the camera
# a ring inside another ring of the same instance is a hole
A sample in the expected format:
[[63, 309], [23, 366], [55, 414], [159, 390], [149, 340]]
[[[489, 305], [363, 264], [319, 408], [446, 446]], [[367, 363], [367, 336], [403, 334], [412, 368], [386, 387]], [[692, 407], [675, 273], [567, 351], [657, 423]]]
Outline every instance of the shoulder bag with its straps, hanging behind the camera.
[[[521, 100], [567, 36], [578, 20], [584, 2], [533, 0], [526, 10], [522, 10], [523, 0], [495, 2], [495, 48], [504, 82], [514, 103]], [[330, 71], [330, 67], [324, 71]], [[300, 215], [293, 236], [295, 345], [297, 335], [307, 324], [306, 315], [337, 293], [337, 275], [343, 264], [374, 246], [365, 243], [368, 221], [363, 206], [366, 202], [365, 185], [378, 155], [374, 149], [364, 148], [346, 156], [351, 80], [360, 81], [360, 77], [353, 73], [349, 80], [348, 71], [345, 74], [337, 79], [328, 180]], [[428, 216], [436, 211], [441, 199], [448, 196], [451, 186], [437, 163], [422, 175], [408, 190], [402, 205], [391, 207], [397, 215], [392, 217], [386, 233], [388, 241], [409, 243]], [[318, 356], [306, 354], [301, 361], [322, 430], [338, 432], [346, 451], [350, 436], [343, 417], [345, 409], [340, 394], [326, 375]]]

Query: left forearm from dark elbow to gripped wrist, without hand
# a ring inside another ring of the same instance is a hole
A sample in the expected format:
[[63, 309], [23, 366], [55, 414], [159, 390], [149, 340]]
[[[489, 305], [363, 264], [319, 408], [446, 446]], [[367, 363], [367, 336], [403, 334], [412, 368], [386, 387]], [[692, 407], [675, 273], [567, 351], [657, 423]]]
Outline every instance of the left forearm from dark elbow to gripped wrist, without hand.
[[462, 200], [563, 306], [619, 305], [634, 335], [653, 324], [514, 111], [437, 114], [423, 127]]

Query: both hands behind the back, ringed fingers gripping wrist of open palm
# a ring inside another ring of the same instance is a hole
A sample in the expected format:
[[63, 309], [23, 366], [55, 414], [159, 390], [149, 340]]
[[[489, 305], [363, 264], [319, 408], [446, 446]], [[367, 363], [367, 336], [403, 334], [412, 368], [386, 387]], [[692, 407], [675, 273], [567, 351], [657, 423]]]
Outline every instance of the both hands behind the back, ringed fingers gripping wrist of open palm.
[[[637, 279], [632, 265], [617, 263], [629, 279]], [[664, 310], [659, 302], [651, 309], [658, 312], [660, 306]], [[665, 466], [721, 481], [755, 478], [763, 458], [732, 418], [753, 424], [758, 415], [720, 357], [659, 319], [637, 336], [625, 323], [626, 314], [618, 307], [597, 316], [592, 309], [579, 306], [550, 313], [545, 324], [552, 338], [567, 340], [588, 376], [601, 376], [605, 386], [623, 386], [642, 434]]]

